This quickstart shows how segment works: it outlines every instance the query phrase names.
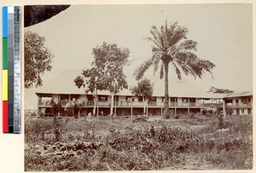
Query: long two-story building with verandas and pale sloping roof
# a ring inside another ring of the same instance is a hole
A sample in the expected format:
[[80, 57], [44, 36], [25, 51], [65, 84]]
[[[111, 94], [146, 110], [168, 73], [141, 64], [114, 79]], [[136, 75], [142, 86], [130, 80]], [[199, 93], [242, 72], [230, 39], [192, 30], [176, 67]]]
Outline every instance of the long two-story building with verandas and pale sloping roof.
[[[75, 86], [73, 80], [79, 76], [81, 71], [66, 70], [61, 72], [56, 78], [39, 89], [38, 95], [38, 117], [51, 116], [50, 100], [55, 101], [83, 101], [80, 115], [87, 115], [92, 112], [94, 107], [93, 95], [85, 94], [83, 88]], [[159, 77], [150, 77], [154, 83], [154, 93], [152, 98], [147, 101], [146, 114], [162, 115], [164, 112], [164, 81]], [[129, 88], [136, 86], [137, 81], [132, 77], [127, 77]], [[201, 112], [203, 109], [215, 110], [217, 107], [223, 107], [224, 94], [209, 94], [202, 91], [199, 87], [186, 80], [178, 80], [177, 78], [169, 78], [169, 109], [175, 114]], [[108, 90], [98, 91], [96, 95], [96, 114], [104, 115], [110, 112], [111, 95]], [[229, 99], [225, 99], [229, 105]], [[233, 98], [233, 97], [232, 97]], [[143, 114], [144, 102], [143, 98], [136, 97], [131, 94], [130, 89], [123, 89], [117, 95], [114, 95], [113, 112], [117, 115], [137, 115]], [[251, 100], [252, 101], [252, 100]], [[244, 110], [251, 113], [250, 109]]]

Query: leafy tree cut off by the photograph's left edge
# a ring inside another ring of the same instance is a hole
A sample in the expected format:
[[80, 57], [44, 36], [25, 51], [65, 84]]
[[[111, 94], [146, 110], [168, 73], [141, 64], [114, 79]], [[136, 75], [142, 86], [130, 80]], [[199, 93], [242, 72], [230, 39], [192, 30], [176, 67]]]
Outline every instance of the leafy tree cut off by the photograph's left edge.
[[45, 71], [50, 71], [50, 65], [54, 55], [44, 45], [45, 37], [39, 36], [34, 32], [25, 32], [24, 36], [24, 55], [25, 55], [25, 88], [42, 86], [41, 75]]

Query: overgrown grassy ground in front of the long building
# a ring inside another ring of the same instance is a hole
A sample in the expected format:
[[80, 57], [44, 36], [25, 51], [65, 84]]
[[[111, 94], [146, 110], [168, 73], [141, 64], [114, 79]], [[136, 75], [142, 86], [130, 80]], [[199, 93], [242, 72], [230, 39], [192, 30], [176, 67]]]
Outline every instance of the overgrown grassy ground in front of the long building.
[[[30, 170], [247, 170], [253, 117], [26, 118]], [[54, 123], [55, 122], [55, 123]], [[58, 139], [56, 139], [56, 136]]]

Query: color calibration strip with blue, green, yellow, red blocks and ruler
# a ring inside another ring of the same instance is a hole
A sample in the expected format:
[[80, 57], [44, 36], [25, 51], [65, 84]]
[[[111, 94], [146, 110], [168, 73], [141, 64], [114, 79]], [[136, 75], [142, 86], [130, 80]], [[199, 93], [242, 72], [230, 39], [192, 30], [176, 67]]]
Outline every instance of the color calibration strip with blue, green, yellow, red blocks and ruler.
[[3, 133], [20, 133], [20, 7], [3, 7]]

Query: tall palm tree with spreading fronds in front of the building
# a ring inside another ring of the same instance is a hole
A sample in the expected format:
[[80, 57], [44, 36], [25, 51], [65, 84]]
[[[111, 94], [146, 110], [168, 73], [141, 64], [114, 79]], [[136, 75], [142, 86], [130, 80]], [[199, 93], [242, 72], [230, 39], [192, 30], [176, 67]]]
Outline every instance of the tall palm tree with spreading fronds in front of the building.
[[160, 31], [156, 26], [152, 26], [150, 33], [152, 37], [147, 39], [153, 42], [152, 57], [138, 66], [134, 75], [139, 80], [143, 78], [144, 73], [150, 66], [154, 66], [154, 73], [158, 71], [160, 66], [160, 79], [165, 75], [165, 109], [164, 116], [166, 117], [169, 110], [169, 94], [168, 94], [168, 71], [169, 65], [172, 66], [177, 74], [177, 78], [182, 78], [182, 71], [185, 75], [192, 75], [195, 78], [201, 78], [204, 72], [212, 74], [212, 68], [215, 66], [212, 62], [201, 60], [197, 55], [196, 42], [187, 39], [186, 33], [188, 29], [183, 26], [178, 26], [177, 22], [160, 27]]

